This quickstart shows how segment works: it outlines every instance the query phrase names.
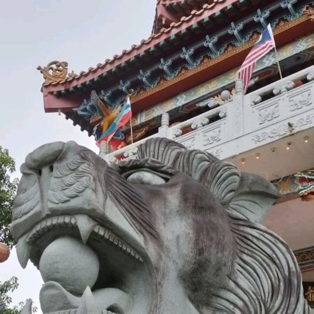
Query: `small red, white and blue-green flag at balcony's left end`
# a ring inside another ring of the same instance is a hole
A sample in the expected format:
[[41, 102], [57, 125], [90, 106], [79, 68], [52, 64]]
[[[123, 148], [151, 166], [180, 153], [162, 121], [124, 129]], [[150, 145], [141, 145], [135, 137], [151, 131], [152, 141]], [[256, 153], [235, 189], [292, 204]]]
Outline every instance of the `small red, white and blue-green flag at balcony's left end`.
[[106, 141], [108, 143], [112, 136], [114, 135], [114, 133], [119, 128], [127, 124], [131, 117], [132, 117], [131, 102], [130, 97], [128, 97], [117, 117], [110, 124], [109, 128], [105, 131], [101, 138], [96, 142], [97, 146], [100, 146], [100, 143], [103, 141]]

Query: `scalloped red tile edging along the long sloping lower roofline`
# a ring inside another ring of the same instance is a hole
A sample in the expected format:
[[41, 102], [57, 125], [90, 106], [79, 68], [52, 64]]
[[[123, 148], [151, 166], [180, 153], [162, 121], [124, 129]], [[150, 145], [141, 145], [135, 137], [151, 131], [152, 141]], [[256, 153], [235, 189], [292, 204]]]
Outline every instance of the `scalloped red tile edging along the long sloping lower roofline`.
[[98, 64], [96, 68], [90, 68], [87, 72], [82, 72], [77, 77], [72, 79], [66, 79], [60, 83], [51, 83], [49, 85], [44, 84], [42, 88], [44, 96], [48, 93], [71, 89], [75, 86], [78, 86], [79, 84], [84, 84], [88, 81], [92, 81], [99, 76], [102, 76], [105, 72], [113, 70], [115, 67], [118, 67], [124, 62], [129, 62], [132, 60], [132, 58], [140, 56], [141, 53], [150, 50], [151, 48], [162, 43], [169, 37], [176, 35], [184, 29], [193, 26], [195, 23], [202, 21], [212, 14], [215, 14], [216, 12], [226, 7], [226, 5], [230, 5], [237, 1], [238, 0], [226, 0], [222, 3], [217, 3], [213, 7], [209, 7], [207, 9], [192, 11], [192, 15], [190, 15], [189, 17], [183, 17], [182, 21], [174, 24], [173, 26], [166, 29], [161, 29], [160, 33], [152, 35], [148, 40], [143, 40], [138, 46], [132, 46], [131, 50], [124, 51], [121, 55], [115, 55], [112, 60], [107, 60], [105, 64]]

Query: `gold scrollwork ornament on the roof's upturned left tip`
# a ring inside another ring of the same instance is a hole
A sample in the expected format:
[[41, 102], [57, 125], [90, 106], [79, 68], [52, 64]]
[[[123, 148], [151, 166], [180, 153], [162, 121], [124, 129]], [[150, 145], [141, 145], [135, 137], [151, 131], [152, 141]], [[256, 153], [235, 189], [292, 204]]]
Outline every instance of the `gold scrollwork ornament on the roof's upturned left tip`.
[[[65, 61], [51, 61], [42, 68], [40, 65], [37, 70], [44, 76], [44, 84], [59, 83], [68, 78], [73, 78], [75, 74], [72, 73], [68, 75], [68, 62]], [[68, 76], [67, 76], [68, 75]]]

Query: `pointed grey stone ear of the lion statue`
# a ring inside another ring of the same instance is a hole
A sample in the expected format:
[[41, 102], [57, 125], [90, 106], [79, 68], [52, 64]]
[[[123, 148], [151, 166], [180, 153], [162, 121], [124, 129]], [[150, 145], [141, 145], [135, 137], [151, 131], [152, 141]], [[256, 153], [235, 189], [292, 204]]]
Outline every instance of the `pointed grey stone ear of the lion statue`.
[[251, 222], [262, 218], [280, 196], [275, 186], [261, 176], [241, 173], [235, 195], [229, 203], [228, 212], [234, 217]]

